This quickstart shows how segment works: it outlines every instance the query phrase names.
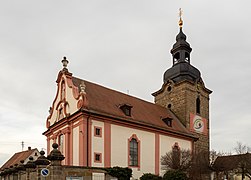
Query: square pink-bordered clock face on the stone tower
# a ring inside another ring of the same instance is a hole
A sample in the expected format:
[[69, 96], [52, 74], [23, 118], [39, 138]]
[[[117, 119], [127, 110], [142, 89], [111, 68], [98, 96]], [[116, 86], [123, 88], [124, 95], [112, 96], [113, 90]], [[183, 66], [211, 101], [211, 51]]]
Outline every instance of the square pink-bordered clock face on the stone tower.
[[207, 133], [207, 121], [195, 114], [190, 114], [190, 130], [197, 133]]

